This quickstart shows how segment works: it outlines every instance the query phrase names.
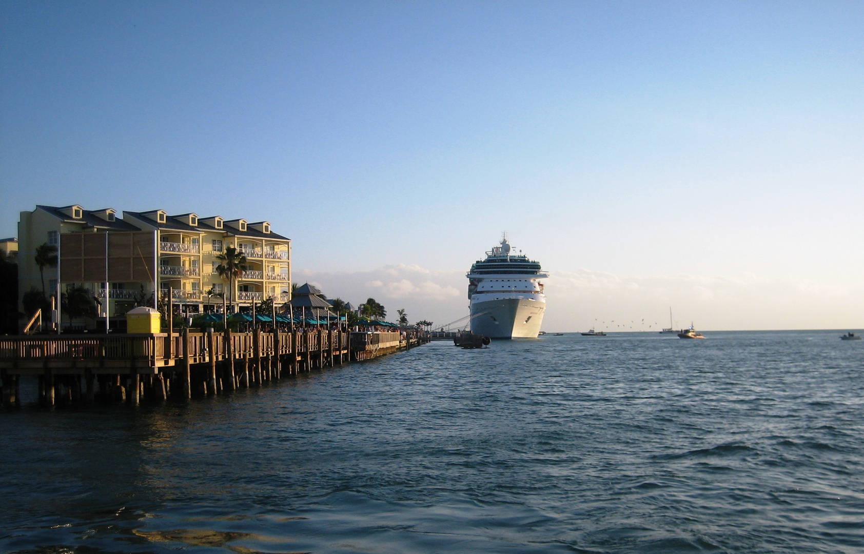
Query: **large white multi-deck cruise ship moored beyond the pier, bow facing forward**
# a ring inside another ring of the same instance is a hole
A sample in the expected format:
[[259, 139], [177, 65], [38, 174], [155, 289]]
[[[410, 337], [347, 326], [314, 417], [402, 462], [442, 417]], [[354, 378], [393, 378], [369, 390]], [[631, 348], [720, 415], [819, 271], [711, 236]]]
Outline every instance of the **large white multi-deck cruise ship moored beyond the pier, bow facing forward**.
[[536, 339], [543, 323], [546, 295], [540, 279], [549, 277], [521, 251], [511, 251], [507, 237], [471, 266], [468, 298], [471, 332], [492, 339]]

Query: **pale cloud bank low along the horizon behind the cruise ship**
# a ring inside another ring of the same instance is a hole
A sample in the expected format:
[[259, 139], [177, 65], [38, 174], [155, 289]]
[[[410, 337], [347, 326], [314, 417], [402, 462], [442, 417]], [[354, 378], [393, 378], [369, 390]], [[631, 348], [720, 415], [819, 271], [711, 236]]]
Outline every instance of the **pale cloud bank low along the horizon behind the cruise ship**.
[[[359, 304], [373, 297], [388, 314], [408, 311], [411, 321], [452, 322], [467, 315], [463, 271], [433, 271], [392, 264], [353, 272], [299, 271], [328, 297]], [[553, 271], [543, 328], [586, 330], [606, 322], [607, 330], [656, 330], [692, 321], [702, 329], [861, 328], [864, 291], [805, 279], [671, 275], [621, 277], [605, 271]], [[611, 323], [612, 321], [615, 323]]]

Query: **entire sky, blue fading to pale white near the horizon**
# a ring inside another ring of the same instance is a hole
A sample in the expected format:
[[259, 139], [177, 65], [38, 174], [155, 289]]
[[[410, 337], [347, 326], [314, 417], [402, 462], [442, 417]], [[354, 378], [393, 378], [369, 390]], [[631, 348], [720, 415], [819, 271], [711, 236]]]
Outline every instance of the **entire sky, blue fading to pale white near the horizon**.
[[3, 3], [0, 235], [36, 203], [270, 220], [297, 275], [442, 321], [506, 230], [552, 272], [556, 330], [669, 305], [703, 328], [864, 327], [862, 16]]

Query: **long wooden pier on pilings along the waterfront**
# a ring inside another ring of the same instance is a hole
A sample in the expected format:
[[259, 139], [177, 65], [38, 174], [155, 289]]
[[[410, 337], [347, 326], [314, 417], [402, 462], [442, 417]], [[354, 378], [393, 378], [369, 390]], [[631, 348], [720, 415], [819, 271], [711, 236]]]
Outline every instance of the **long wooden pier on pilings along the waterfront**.
[[0, 336], [0, 399], [21, 405], [19, 383], [28, 375], [38, 379], [39, 400], [49, 406], [221, 394], [424, 342], [427, 334], [413, 329]]

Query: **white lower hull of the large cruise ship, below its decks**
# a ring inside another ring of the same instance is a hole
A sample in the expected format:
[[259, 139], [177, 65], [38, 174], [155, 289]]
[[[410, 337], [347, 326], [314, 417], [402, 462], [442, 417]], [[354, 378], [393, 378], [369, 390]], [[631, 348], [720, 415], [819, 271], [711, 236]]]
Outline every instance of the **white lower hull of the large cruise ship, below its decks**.
[[502, 298], [471, 302], [471, 332], [492, 339], [536, 339], [546, 302], [530, 298]]

